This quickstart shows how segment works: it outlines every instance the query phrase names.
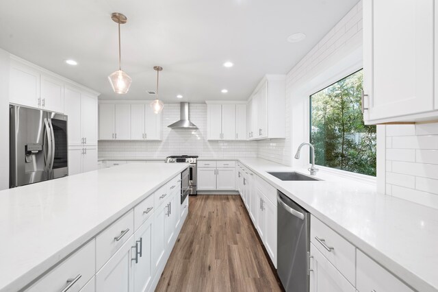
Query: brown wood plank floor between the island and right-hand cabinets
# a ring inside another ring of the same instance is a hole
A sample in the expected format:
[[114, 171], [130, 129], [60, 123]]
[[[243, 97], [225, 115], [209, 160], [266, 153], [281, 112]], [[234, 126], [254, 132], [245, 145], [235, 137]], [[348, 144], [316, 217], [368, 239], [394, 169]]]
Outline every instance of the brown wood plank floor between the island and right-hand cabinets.
[[155, 291], [282, 290], [240, 196], [191, 196]]

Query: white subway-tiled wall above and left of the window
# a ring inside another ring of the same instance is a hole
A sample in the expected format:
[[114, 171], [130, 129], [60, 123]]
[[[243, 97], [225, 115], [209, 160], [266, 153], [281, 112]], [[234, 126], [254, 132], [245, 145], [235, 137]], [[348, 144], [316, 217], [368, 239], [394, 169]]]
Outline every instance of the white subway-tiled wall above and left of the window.
[[361, 67], [362, 1], [287, 73], [286, 138], [259, 141], [259, 157], [285, 165], [305, 165], [308, 151], [299, 161], [293, 157], [298, 145], [309, 141], [309, 95]]

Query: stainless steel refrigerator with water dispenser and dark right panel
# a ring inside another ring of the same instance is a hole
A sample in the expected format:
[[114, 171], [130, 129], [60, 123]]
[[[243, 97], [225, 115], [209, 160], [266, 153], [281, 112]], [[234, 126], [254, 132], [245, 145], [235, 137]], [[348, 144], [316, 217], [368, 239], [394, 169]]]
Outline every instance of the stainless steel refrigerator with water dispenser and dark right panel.
[[10, 106], [10, 188], [68, 175], [67, 116]]

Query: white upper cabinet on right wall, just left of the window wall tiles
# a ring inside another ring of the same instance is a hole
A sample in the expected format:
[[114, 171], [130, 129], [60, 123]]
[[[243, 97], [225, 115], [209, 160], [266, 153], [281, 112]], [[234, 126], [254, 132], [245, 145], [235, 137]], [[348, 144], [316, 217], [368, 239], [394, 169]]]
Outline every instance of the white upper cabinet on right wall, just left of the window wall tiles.
[[250, 140], [285, 138], [285, 75], [266, 75], [248, 101]]

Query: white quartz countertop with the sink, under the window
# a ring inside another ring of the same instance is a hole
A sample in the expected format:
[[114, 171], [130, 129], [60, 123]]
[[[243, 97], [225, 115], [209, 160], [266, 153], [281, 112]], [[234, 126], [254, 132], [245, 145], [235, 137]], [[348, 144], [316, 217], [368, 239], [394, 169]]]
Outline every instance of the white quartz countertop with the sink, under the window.
[[376, 186], [320, 171], [324, 181], [281, 181], [267, 171], [300, 171], [239, 159], [417, 291], [438, 291], [438, 210], [376, 193]]

